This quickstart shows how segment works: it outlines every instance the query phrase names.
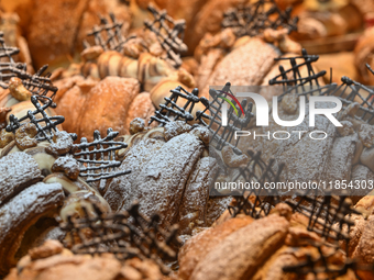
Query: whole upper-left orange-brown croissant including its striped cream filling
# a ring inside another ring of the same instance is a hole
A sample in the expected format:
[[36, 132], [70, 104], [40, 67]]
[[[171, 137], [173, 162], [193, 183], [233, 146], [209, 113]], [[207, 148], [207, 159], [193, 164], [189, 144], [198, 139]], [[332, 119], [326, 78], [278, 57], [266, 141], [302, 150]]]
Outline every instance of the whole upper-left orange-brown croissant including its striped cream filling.
[[[103, 133], [109, 126], [127, 134], [134, 117], [150, 120], [154, 107], [169, 96], [170, 87], [195, 87], [190, 74], [183, 68], [176, 70], [150, 53], [141, 53], [134, 59], [114, 51], [96, 49], [97, 46], [84, 52], [84, 57], [90, 57], [80, 68], [85, 78], [77, 75], [55, 82], [59, 88], [56, 112], [66, 116], [64, 128], [79, 137], [91, 139], [95, 130]], [[90, 56], [90, 52], [95, 55]], [[139, 96], [141, 89], [145, 92]], [[150, 90], [151, 94], [146, 93]], [[75, 110], [70, 113], [72, 107]]]

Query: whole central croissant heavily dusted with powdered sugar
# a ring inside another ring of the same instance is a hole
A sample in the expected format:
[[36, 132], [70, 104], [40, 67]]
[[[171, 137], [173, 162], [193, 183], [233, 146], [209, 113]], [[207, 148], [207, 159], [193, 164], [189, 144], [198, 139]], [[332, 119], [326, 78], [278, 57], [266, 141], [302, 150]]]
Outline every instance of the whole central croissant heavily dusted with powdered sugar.
[[182, 233], [209, 226], [223, 210], [208, 211], [218, 166], [205, 153], [202, 131], [177, 121], [123, 136], [129, 147], [118, 154], [123, 157], [120, 169], [132, 172], [110, 183], [105, 199], [111, 209], [125, 209], [136, 199], [143, 213], [161, 213], [162, 225], [179, 221]]

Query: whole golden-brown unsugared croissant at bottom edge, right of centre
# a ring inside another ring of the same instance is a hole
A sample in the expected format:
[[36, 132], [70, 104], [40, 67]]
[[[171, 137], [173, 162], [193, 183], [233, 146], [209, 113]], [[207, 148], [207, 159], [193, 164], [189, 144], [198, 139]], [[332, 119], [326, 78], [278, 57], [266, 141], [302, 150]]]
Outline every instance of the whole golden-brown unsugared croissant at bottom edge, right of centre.
[[[253, 221], [239, 215], [191, 237], [180, 249], [179, 279], [301, 279], [296, 269], [285, 271], [284, 267], [296, 268], [308, 255], [316, 258], [317, 247], [310, 244], [322, 239], [307, 231], [307, 219], [289, 213], [290, 208], [280, 203], [268, 216]], [[329, 245], [321, 251], [334, 256], [326, 264], [330, 268], [344, 264], [342, 251]], [[351, 279], [353, 271], [344, 277]]]

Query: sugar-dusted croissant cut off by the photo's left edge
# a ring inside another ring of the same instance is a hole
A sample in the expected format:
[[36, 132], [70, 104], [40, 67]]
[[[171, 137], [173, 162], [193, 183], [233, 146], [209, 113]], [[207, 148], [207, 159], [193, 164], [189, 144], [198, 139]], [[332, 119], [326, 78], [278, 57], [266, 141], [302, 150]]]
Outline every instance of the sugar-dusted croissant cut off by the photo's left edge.
[[[64, 200], [62, 186], [45, 184], [37, 163], [25, 153], [13, 153], [0, 159], [0, 275], [15, 265], [18, 258], [28, 251], [43, 231], [34, 227], [37, 221], [53, 225], [53, 217]], [[52, 223], [51, 223], [51, 221]], [[43, 228], [46, 229], [46, 228]], [[25, 236], [24, 236], [25, 235]], [[30, 239], [29, 239], [30, 238]]]

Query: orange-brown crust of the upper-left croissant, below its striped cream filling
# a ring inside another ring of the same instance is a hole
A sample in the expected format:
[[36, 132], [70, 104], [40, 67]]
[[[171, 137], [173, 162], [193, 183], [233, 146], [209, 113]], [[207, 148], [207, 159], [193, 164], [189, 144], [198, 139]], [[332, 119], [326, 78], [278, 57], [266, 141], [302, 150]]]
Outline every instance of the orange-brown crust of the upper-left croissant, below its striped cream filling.
[[108, 127], [125, 134], [134, 117], [150, 120], [154, 114], [150, 93], [140, 93], [134, 78], [111, 76], [95, 81], [75, 76], [55, 85], [59, 87], [56, 112], [65, 115], [64, 128], [78, 137], [91, 141], [96, 130], [103, 134]]

